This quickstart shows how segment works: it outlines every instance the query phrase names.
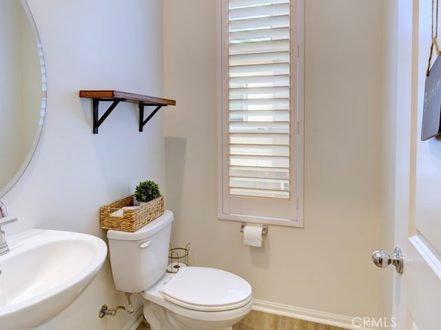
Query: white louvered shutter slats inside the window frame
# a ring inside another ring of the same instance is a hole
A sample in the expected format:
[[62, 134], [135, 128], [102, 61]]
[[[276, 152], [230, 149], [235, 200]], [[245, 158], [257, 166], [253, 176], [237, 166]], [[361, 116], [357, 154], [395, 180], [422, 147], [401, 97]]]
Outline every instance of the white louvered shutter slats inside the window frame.
[[289, 0], [229, 0], [229, 195], [290, 198]]

